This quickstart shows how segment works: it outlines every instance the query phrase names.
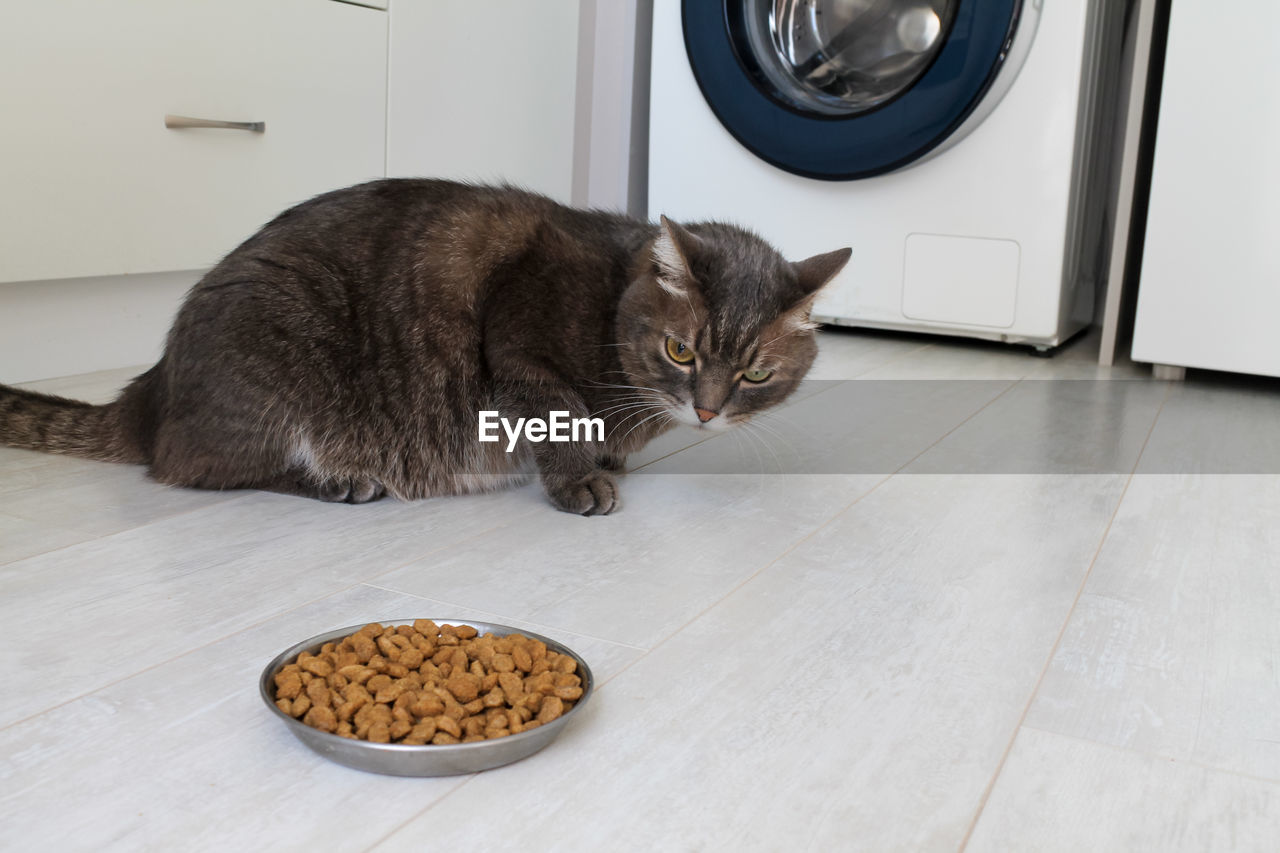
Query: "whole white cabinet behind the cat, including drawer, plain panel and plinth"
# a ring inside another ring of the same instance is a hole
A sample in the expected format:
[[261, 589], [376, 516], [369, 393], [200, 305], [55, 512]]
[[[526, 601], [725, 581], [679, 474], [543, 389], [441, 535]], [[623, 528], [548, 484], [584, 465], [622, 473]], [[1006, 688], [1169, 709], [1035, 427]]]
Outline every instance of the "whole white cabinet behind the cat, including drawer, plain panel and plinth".
[[[154, 361], [202, 272], [319, 192], [435, 175], [567, 201], [579, 14], [0, 0], [0, 382]], [[266, 131], [169, 129], [166, 114]]]

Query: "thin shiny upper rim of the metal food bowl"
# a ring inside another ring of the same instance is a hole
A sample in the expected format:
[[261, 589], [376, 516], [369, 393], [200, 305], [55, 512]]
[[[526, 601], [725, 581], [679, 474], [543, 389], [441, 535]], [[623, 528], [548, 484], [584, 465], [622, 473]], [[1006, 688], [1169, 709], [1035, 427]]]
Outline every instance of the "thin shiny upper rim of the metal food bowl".
[[[419, 619], [430, 620], [430, 621], [435, 622], [436, 625], [467, 625], [470, 628], [475, 628], [477, 631], [480, 631], [480, 634], [493, 633], [497, 637], [506, 637], [508, 634], [521, 634], [522, 637], [527, 637], [529, 639], [540, 640], [540, 642], [543, 642], [543, 643], [547, 644], [548, 651], [557, 652], [559, 654], [568, 654], [570, 657], [572, 657], [577, 662], [577, 674], [582, 679], [582, 695], [579, 697], [573, 702], [573, 707], [570, 708], [567, 712], [562, 713], [556, 720], [552, 720], [550, 722], [548, 722], [548, 724], [545, 724], [543, 726], [539, 726], [536, 729], [531, 729], [529, 731], [520, 731], [520, 733], [513, 734], [513, 735], [507, 735], [506, 738], [488, 738], [485, 740], [472, 740], [471, 743], [445, 743], [445, 744], [434, 744], [434, 743], [424, 743], [424, 744], [413, 744], [413, 743], [374, 743], [372, 740], [365, 740], [362, 738], [343, 738], [342, 735], [333, 734], [332, 731], [321, 731], [320, 729], [315, 729], [312, 726], [308, 726], [307, 724], [302, 722], [297, 717], [292, 717], [288, 713], [285, 713], [284, 711], [280, 711], [275, 706], [275, 699], [271, 698], [271, 693], [274, 690], [273, 679], [275, 678], [276, 672], [279, 672], [282, 669], [284, 669], [284, 665], [288, 661], [296, 658], [300, 653], [302, 653], [302, 652], [312, 652], [312, 653], [315, 653], [315, 651], [317, 651], [325, 643], [342, 639], [343, 637], [347, 637], [349, 634], [355, 634], [361, 628], [364, 628], [365, 625], [370, 625], [374, 621], [378, 621], [381, 625], [390, 624], [390, 625], [399, 626], [402, 624], [412, 624], [412, 622], [417, 621]], [[504, 633], [499, 634], [498, 633], [499, 630], [504, 631]], [[474, 619], [438, 619], [438, 617], [430, 617], [430, 616], [419, 616], [419, 617], [407, 619], [407, 620], [406, 619], [370, 620], [370, 621], [366, 621], [366, 622], [360, 622], [358, 625], [351, 625], [348, 628], [339, 628], [339, 629], [334, 629], [332, 631], [324, 631], [324, 633], [316, 634], [315, 637], [311, 637], [310, 639], [305, 639], [301, 643], [294, 643], [293, 646], [291, 646], [289, 648], [284, 649], [283, 652], [280, 652], [279, 654], [276, 654], [274, 658], [271, 658], [271, 662], [266, 665], [266, 667], [262, 670], [262, 675], [259, 676], [259, 680], [257, 680], [257, 692], [259, 692], [259, 695], [262, 698], [262, 702], [265, 702], [266, 707], [271, 711], [271, 713], [274, 713], [276, 717], [279, 717], [280, 720], [283, 720], [285, 722], [285, 725], [288, 725], [291, 727], [291, 730], [296, 735], [305, 735], [305, 736], [308, 736], [308, 738], [319, 738], [319, 743], [332, 743], [335, 747], [339, 745], [339, 744], [342, 747], [352, 747], [352, 745], [355, 745], [356, 748], [372, 749], [375, 752], [404, 753], [404, 754], [407, 754], [407, 753], [434, 753], [434, 752], [443, 752], [445, 749], [449, 749], [449, 751], [453, 751], [453, 749], [457, 749], [457, 751], [484, 749], [485, 747], [492, 748], [493, 744], [498, 744], [498, 743], [502, 743], [502, 744], [518, 743], [518, 739], [521, 739], [521, 738], [532, 739], [532, 738], [538, 738], [538, 736], [547, 736], [547, 730], [556, 730], [556, 729], [559, 729], [561, 726], [566, 725], [566, 721], [570, 717], [572, 717], [573, 713], [580, 707], [582, 707], [584, 704], [586, 704], [586, 701], [589, 698], [591, 698], [591, 693], [594, 690], [595, 690], [595, 675], [591, 672], [591, 667], [588, 665], [586, 660], [584, 660], [581, 654], [579, 654], [577, 652], [575, 652], [573, 649], [571, 649], [568, 646], [564, 646], [564, 643], [561, 643], [559, 640], [554, 640], [550, 637], [545, 637], [545, 635], [538, 634], [535, 631], [529, 631], [529, 630], [524, 630], [521, 628], [516, 628], [515, 625], [503, 625], [500, 622], [486, 622], [486, 621], [479, 621], [479, 620], [474, 620]], [[541, 735], [539, 735], [539, 733], [541, 733]]]

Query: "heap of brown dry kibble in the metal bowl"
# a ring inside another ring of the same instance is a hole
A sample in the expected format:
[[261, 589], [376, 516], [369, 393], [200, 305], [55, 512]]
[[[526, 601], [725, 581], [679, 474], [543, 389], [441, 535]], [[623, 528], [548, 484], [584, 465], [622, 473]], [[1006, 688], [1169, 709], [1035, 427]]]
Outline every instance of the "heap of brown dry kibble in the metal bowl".
[[275, 674], [275, 706], [374, 743], [471, 743], [529, 731], [582, 697], [577, 661], [522, 634], [468, 625], [365, 625]]

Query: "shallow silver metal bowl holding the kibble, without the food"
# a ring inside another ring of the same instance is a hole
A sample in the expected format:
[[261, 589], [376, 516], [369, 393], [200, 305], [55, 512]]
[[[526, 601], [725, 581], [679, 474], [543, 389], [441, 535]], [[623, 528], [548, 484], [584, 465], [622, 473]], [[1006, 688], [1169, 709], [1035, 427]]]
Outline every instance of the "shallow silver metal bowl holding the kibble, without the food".
[[[383, 625], [407, 625], [413, 619], [384, 620]], [[511, 625], [495, 625], [493, 622], [474, 622], [466, 619], [435, 619], [438, 625], [470, 625], [480, 634], [494, 634], [504, 637], [507, 634], [522, 634], [530, 639], [547, 643], [547, 649], [568, 654], [577, 661], [577, 676], [582, 679], [582, 697], [573, 703], [564, 715], [552, 720], [530, 731], [497, 738], [493, 740], [477, 740], [475, 743], [458, 744], [426, 744], [411, 745], [398, 743], [372, 743], [369, 740], [352, 740], [340, 738], [328, 731], [320, 731], [305, 725], [301, 720], [294, 720], [289, 715], [275, 707], [275, 674], [284, 669], [284, 665], [297, 658], [302, 652], [316, 654], [325, 643], [335, 643], [343, 637], [355, 634], [367, 622], [352, 625], [335, 631], [317, 634], [311, 639], [302, 640], [297, 646], [280, 652], [275, 660], [262, 670], [259, 679], [259, 692], [262, 702], [276, 717], [284, 721], [293, 735], [307, 747], [339, 765], [366, 770], [374, 774], [387, 774], [390, 776], [456, 776], [458, 774], [474, 774], [490, 767], [509, 765], [521, 758], [527, 758], [552, 740], [568, 725], [570, 720], [579, 715], [579, 710], [591, 698], [595, 688], [595, 679], [591, 676], [591, 667], [586, 665], [582, 656], [562, 643], [522, 630]]]

